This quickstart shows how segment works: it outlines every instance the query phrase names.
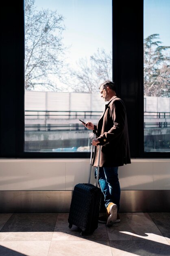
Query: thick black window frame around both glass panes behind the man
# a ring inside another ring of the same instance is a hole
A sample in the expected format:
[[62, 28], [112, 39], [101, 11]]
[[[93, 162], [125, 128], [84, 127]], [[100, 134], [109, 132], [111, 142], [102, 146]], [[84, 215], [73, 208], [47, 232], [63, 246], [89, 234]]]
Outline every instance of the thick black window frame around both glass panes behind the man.
[[[169, 158], [144, 152], [143, 0], [112, 2], [113, 80], [126, 104], [131, 158]], [[24, 152], [23, 0], [1, 4], [0, 20], [0, 157], [89, 158], [87, 152]]]

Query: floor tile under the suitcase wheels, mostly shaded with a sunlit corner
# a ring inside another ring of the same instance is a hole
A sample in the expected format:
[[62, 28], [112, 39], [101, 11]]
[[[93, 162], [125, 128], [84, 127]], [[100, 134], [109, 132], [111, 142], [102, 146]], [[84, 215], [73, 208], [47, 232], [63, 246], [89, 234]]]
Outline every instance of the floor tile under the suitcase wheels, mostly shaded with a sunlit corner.
[[59, 213], [52, 240], [108, 240], [106, 226], [98, 223], [98, 228], [89, 236], [81, 236], [81, 231], [72, 226], [68, 227], [68, 213]]

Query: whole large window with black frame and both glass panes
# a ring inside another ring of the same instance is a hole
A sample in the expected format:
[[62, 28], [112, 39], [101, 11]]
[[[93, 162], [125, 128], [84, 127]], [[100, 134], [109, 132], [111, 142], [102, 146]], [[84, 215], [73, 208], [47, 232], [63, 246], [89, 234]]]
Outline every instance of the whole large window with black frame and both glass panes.
[[0, 157], [89, 157], [92, 133], [78, 119], [97, 123], [112, 69], [131, 157], [170, 157], [168, 0], [3, 6]]

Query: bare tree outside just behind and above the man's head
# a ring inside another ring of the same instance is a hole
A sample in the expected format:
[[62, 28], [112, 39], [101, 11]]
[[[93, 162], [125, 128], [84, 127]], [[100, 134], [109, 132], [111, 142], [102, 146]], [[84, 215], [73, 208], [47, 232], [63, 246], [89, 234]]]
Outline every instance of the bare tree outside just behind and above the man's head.
[[104, 49], [98, 49], [89, 60], [81, 58], [77, 63], [76, 70], [70, 70], [67, 79], [70, 88], [74, 92], [98, 92], [102, 82], [112, 79], [112, 55], [107, 54]]

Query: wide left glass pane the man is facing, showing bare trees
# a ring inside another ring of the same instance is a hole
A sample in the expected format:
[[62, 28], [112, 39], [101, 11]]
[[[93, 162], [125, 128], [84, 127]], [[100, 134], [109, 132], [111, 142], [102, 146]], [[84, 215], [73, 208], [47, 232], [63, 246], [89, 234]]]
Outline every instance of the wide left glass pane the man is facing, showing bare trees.
[[25, 151], [89, 151], [107, 79], [111, 0], [25, 0]]

